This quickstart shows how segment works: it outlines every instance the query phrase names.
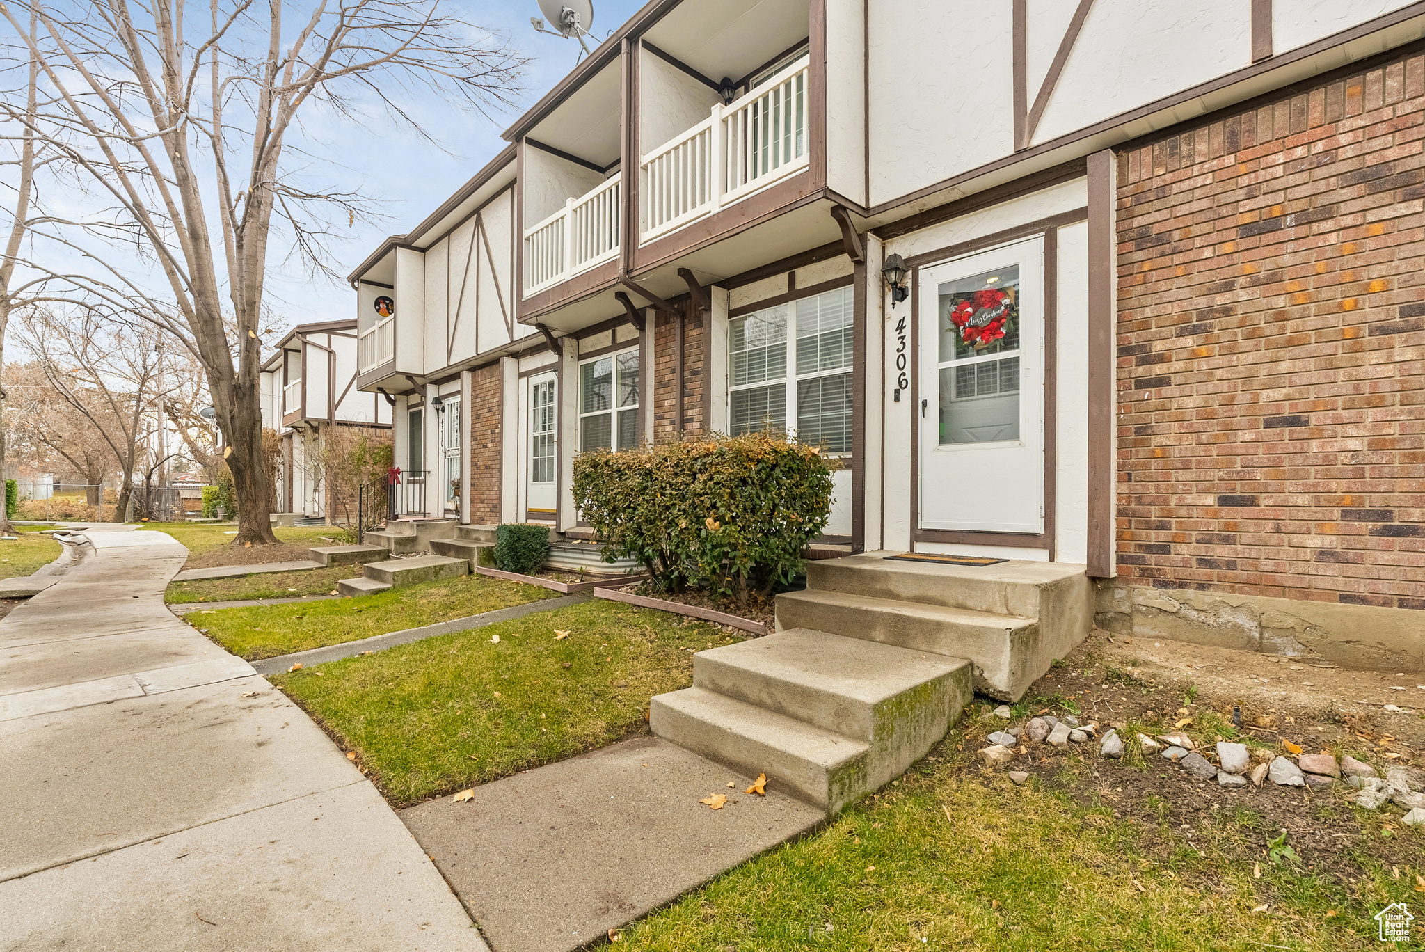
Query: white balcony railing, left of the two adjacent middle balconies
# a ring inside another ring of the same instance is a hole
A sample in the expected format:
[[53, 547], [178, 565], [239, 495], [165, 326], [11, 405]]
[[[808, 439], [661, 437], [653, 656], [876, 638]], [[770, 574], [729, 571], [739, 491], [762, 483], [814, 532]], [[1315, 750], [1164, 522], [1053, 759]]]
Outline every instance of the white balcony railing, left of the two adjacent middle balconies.
[[567, 281], [618, 255], [623, 175], [614, 175], [524, 231], [524, 294]]

